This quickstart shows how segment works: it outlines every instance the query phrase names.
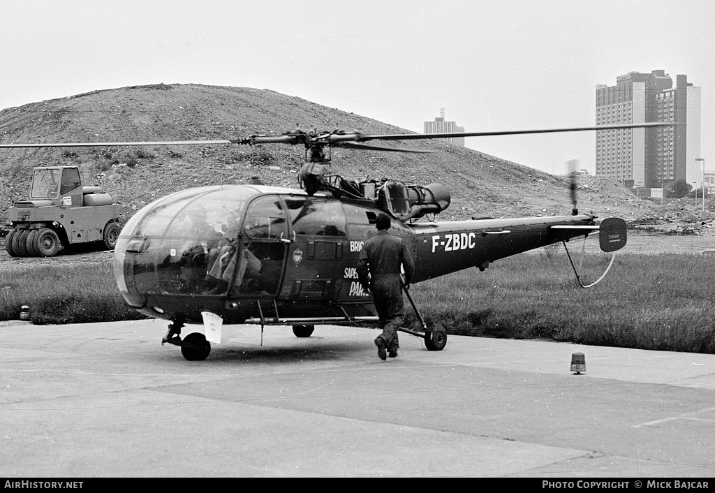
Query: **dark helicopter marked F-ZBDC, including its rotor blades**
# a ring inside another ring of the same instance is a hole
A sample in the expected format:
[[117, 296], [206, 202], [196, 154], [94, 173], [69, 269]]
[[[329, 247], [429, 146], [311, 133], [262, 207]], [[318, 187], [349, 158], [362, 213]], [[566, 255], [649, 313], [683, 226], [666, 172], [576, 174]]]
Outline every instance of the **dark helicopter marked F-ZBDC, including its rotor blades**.
[[[573, 183], [571, 215], [418, 222], [425, 215], [436, 215], [448, 208], [450, 192], [446, 187], [439, 183], [408, 185], [398, 180], [347, 180], [327, 169], [332, 147], [428, 152], [363, 142], [663, 125], [673, 124], [397, 135], [295, 130], [239, 140], [4, 144], [0, 148], [212, 144], [305, 147], [305, 164], [299, 177], [302, 190], [266, 186], [259, 180], [190, 188], [155, 200], [124, 225], [114, 248], [119, 292], [128, 306], [170, 321], [162, 344], [180, 346], [184, 358], [196, 361], [209, 356], [211, 342], [220, 342], [223, 323], [256, 323], [261, 329], [265, 325], [290, 325], [295, 336], [309, 337], [317, 323], [377, 321], [372, 297], [363, 291], [356, 267], [363, 243], [376, 233], [375, 220], [380, 213], [390, 216], [390, 232], [402, 237], [410, 248], [415, 260], [413, 283], [466, 268], [484, 270], [495, 260], [598, 232], [605, 252], [615, 255], [626, 245], [624, 220], [607, 218], [599, 224], [596, 216], [578, 214]], [[440, 351], [447, 342], [445, 329], [439, 324], [428, 326], [409, 291], [405, 293], [422, 331], [400, 330], [423, 338], [428, 350]], [[203, 324], [204, 333], [192, 332], [182, 338], [181, 328], [187, 323]]]

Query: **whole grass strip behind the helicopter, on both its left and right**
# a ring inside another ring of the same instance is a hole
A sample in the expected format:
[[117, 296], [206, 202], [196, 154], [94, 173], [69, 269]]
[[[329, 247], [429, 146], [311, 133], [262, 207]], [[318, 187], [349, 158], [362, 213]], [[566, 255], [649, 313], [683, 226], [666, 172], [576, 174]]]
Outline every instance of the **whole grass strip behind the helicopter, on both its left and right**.
[[[703, 255], [621, 253], [611, 273], [580, 288], [566, 255], [516, 255], [480, 273], [463, 270], [413, 285], [428, 323], [453, 335], [548, 339], [596, 346], [715, 353], [715, 263]], [[581, 258], [575, 259], [577, 265]], [[584, 283], [606, 268], [586, 254]], [[112, 266], [45, 265], [0, 272], [0, 320], [30, 306], [34, 323], [144, 318], [124, 305]], [[405, 299], [405, 325], [416, 317]]]

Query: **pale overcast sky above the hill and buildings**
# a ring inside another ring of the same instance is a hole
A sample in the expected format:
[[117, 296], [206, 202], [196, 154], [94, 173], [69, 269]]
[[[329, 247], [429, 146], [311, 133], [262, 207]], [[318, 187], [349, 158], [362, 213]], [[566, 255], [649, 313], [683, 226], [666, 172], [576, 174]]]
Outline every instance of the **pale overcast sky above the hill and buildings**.
[[[701, 157], [715, 169], [711, 0], [0, 6], [0, 108], [95, 89], [196, 83], [272, 89], [413, 132], [441, 108], [468, 132], [531, 130], [595, 125], [596, 84], [663, 69], [674, 82], [686, 74], [701, 87]], [[595, 132], [578, 132], [466, 143], [561, 173], [573, 159], [593, 172], [595, 140]]]

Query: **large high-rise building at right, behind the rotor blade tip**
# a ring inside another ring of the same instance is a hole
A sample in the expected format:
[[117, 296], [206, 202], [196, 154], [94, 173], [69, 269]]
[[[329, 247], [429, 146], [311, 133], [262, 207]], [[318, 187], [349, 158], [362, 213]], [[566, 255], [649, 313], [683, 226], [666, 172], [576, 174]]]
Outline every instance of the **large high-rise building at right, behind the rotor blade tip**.
[[596, 131], [596, 175], [626, 186], [663, 187], [677, 180], [702, 185], [700, 87], [664, 70], [628, 72], [616, 85], [596, 86], [596, 125], [674, 122], [673, 127]]

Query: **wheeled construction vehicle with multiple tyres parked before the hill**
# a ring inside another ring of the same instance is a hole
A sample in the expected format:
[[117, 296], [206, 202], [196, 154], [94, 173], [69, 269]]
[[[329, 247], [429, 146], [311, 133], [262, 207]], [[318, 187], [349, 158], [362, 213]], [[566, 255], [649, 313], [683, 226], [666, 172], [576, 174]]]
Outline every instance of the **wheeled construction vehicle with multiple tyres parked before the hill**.
[[8, 210], [13, 257], [53, 257], [78, 243], [114, 250], [122, 228], [119, 205], [101, 187], [83, 187], [77, 166], [36, 167], [28, 200]]

